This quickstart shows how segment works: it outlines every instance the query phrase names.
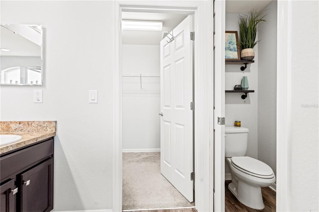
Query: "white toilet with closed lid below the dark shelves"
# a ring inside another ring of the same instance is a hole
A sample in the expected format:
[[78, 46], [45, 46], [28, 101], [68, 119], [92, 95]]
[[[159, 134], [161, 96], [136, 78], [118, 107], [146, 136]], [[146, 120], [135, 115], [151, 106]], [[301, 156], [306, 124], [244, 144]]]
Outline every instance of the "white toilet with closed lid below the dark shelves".
[[245, 156], [248, 132], [244, 127], [225, 127], [225, 159], [232, 174], [228, 188], [244, 205], [263, 209], [261, 187], [272, 185], [276, 177], [270, 166]]

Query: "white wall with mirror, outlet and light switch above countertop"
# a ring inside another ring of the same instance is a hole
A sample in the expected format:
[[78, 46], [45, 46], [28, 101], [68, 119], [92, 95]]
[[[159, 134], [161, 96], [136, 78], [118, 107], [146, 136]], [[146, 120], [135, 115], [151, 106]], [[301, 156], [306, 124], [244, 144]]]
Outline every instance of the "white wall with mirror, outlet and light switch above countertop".
[[112, 2], [1, 1], [1, 23], [44, 27], [44, 86], [2, 86], [1, 120], [57, 120], [54, 210], [112, 208]]

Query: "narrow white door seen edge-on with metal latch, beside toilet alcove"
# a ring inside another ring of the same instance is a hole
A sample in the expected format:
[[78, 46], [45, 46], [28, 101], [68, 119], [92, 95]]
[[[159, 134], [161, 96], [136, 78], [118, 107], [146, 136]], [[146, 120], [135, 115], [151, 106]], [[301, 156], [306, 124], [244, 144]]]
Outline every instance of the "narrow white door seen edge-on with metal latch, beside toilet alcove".
[[225, 211], [225, 0], [214, 1], [214, 211]]

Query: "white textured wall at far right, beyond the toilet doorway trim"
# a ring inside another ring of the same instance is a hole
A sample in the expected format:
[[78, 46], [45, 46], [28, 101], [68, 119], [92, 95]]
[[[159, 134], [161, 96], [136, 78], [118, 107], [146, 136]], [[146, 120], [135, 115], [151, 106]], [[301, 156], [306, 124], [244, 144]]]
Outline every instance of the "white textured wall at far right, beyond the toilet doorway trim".
[[293, 211], [319, 211], [318, 6], [318, 1], [292, 2], [291, 208]]

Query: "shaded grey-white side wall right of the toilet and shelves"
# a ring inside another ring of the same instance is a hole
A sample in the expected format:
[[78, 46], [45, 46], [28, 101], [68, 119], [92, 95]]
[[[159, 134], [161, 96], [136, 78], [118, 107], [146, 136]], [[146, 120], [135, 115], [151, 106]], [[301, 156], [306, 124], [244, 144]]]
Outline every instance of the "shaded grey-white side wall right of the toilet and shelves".
[[277, 1], [258, 25], [258, 160], [276, 174]]

